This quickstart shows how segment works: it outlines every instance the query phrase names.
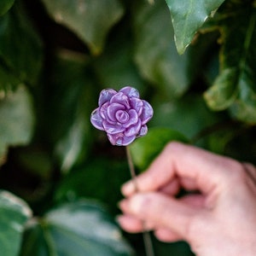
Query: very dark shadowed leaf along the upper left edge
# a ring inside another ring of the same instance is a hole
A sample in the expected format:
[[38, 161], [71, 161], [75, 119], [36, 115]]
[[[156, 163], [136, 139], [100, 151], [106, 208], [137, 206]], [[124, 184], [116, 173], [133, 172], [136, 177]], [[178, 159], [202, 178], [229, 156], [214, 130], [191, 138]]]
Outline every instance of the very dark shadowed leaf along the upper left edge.
[[35, 84], [43, 61], [42, 42], [18, 3], [0, 17], [0, 63], [11, 76]]

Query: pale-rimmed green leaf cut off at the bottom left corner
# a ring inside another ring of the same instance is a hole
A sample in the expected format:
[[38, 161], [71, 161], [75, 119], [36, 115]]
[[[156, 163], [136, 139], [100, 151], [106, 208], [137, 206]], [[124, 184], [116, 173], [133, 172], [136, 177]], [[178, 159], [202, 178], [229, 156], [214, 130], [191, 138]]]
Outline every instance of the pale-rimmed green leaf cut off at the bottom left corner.
[[0, 255], [18, 255], [26, 221], [32, 217], [31, 209], [20, 198], [1, 190], [0, 215]]

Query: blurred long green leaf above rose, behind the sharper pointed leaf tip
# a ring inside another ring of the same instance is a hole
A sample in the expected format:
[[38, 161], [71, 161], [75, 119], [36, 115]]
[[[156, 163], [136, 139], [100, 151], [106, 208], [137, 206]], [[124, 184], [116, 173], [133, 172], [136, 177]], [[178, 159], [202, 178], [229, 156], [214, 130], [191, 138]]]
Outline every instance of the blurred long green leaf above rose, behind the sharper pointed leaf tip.
[[164, 1], [133, 8], [135, 61], [143, 77], [155, 84], [162, 96], [181, 96], [189, 88], [188, 55], [178, 55], [170, 14]]

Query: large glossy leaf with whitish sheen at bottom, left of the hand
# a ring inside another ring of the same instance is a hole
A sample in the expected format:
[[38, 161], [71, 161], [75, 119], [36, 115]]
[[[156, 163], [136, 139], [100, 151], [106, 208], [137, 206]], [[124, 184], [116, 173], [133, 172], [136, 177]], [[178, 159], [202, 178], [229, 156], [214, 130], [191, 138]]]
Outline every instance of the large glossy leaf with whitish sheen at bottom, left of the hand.
[[128, 256], [131, 247], [108, 213], [91, 201], [67, 203], [32, 222], [21, 256]]

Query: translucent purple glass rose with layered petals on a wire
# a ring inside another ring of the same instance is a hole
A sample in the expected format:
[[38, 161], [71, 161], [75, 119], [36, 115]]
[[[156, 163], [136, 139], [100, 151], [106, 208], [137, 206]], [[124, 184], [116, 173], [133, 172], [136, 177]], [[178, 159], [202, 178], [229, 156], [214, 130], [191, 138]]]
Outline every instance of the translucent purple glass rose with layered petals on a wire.
[[119, 91], [102, 90], [99, 108], [91, 113], [90, 122], [97, 129], [106, 131], [113, 145], [127, 146], [136, 137], [146, 135], [146, 123], [152, 116], [151, 105], [139, 98], [135, 88], [126, 86]]

